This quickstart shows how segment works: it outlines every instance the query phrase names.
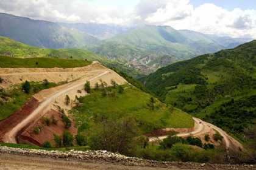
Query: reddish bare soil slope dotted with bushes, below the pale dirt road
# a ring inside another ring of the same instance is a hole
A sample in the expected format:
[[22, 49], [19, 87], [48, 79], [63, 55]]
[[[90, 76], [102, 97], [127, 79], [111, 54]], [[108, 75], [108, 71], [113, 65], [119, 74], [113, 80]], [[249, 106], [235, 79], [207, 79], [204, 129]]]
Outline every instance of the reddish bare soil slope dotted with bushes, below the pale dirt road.
[[[34, 121], [33, 123], [29, 124], [29, 126], [24, 128], [23, 132], [21, 132], [21, 134], [17, 137], [18, 143], [27, 143], [42, 146], [45, 141], [49, 141], [52, 146], [54, 146], [54, 134], [62, 136], [63, 132], [67, 129], [65, 129], [65, 124], [63, 123], [62, 117], [59, 112], [55, 110], [49, 110], [48, 112], [46, 112], [44, 117], [47, 117], [50, 120], [52, 119], [52, 117], [54, 117], [54, 119], [57, 120], [57, 124], [51, 123], [49, 126], [47, 126], [40, 118], [39, 120]], [[40, 127], [39, 134], [35, 134], [35, 127]], [[77, 134], [77, 129], [76, 127], [74, 127], [73, 122], [71, 127], [69, 127], [68, 131], [73, 135]]]

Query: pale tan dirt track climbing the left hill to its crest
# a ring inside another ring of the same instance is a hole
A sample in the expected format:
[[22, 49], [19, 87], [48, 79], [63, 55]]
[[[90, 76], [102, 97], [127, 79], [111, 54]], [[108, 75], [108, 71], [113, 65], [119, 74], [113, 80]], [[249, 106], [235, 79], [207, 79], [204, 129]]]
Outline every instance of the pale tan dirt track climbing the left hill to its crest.
[[[34, 98], [40, 102], [39, 106], [36, 109], [31, 110], [26, 118], [20, 120], [20, 123], [16, 124], [15, 127], [12, 127], [12, 129], [6, 132], [4, 137], [2, 137], [2, 141], [4, 141], [4, 143], [17, 143], [16, 135], [21, 130], [26, 131], [26, 129], [23, 129], [24, 127], [28, 126], [32, 121], [38, 121], [49, 109], [56, 109], [55, 105], [64, 107], [65, 110], [71, 109], [71, 106], [66, 106], [65, 108], [66, 95], [69, 95], [71, 101], [74, 101], [76, 96], [86, 95], [84, 92], [84, 84], [86, 81], [90, 81], [91, 84], [94, 84], [99, 82], [99, 80], [102, 80], [107, 84], [110, 84], [113, 79], [118, 84], [126, 83], [126, 80], [113, 72], [113, 70], [107, 69], [98, 63], [91, 64], [87, 69], [83, 69], [82, 73], [83, 75], [79, 80], [51, 89], [42, 90], [34, 95]], [[77, 92], [77, 90], [80, 90], [81, 92]]]

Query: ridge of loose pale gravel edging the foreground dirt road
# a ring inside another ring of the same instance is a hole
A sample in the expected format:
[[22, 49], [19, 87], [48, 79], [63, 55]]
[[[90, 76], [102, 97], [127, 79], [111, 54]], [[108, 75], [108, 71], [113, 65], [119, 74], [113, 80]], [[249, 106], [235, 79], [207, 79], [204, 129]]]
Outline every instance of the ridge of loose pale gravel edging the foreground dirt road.
[[20, 149], [0, 146], [0, 154], [23, 155], [29, 157], [54, 158], [56, 160], [68, 160], [79, 162], [115, 163], [125, 166], [147, 166], [158, 168], [180, 169], [256, 169], [255, 165], [210, 165], [205, 163], [180, 163], [166, 161], [143, 160], [141, 158], [126, 157], [107, 151], [44, 151], [37, 149]]

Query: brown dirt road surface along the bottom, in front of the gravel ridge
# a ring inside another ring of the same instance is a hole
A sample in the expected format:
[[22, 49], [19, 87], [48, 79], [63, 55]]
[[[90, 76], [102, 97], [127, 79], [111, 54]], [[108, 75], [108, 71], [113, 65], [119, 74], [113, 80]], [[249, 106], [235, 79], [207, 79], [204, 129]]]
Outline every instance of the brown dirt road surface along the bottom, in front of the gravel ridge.
[[143, 166], [124, 166], [114, 163], [99, 163], [99, 162], [82, 162], [82, 161], [64, 161], [53, 160], [50, 158], [37, 158], [26, 157], [21, 155], [0, 155], [0, 170], [103, 170], [103, 169], [116, 169], [116, 170], [180, 170], [180, 168], [152, 168]]

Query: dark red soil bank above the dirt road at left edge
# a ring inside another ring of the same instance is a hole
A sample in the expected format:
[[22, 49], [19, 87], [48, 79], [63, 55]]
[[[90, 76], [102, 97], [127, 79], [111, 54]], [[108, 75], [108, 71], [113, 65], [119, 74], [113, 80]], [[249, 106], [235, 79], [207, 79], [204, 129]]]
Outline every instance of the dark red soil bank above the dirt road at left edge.
[[28, 117], [33, 110], [35, 110], [40, 103], [37, 99], [32, 97], [20, 110], [16, 111], [10, 117], [0, 121], [0, 141], [6, 132], [9, 132], [13, 127]]

